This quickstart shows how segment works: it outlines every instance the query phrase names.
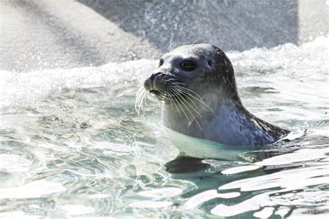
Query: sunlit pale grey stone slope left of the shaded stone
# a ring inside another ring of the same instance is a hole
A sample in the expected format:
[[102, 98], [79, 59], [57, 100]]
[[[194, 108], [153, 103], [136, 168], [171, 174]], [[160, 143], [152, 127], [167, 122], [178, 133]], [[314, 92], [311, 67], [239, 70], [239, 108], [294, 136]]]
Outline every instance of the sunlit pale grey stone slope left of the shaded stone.
[[77, 1], [0, 3], [0, 69], [98, 66], [152, 58], [160, 52], [147, 39]]

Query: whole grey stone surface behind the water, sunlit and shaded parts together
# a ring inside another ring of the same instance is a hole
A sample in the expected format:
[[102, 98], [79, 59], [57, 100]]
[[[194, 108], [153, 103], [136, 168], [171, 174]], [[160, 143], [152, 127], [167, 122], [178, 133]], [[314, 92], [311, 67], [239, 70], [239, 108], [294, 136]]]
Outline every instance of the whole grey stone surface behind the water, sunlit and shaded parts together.
[[328, 35], [326, 0], [1, 0], [0, 69], [158, 58], [171, 37], [224, 51]]

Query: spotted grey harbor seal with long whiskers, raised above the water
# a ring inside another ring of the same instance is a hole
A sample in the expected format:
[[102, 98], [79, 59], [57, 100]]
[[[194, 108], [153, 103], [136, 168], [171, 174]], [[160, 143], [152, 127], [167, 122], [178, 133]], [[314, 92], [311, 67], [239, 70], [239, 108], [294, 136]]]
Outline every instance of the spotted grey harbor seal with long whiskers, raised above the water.
[[162, 101], [163, 124], [190, 137], [262, 146], [289, 133], [248, 112], [237, 93], [233, 65], [210, 44], [179, 46], [162, 55], [144, 89]]

